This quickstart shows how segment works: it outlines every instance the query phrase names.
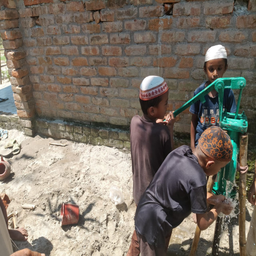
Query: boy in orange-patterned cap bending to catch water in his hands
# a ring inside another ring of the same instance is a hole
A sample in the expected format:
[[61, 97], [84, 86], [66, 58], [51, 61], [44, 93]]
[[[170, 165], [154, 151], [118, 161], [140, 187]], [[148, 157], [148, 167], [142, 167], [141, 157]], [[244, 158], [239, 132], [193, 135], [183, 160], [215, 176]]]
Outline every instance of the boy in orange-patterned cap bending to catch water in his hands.
[[[232, 159], [233, 146], [220, 127], [207, 128], [192, 152], [174, 149], [164, 160], [141, 196], [135, 213], [135, 230], [141, 256], [164, 256], [166, 237], [191, 213], [200, 230], [208, 228], [220, 212], [230, 214], [225, 196], [206, 192], [206, 175], [216, 174]], [[207, 212], [207, 202], [215, 206]]]

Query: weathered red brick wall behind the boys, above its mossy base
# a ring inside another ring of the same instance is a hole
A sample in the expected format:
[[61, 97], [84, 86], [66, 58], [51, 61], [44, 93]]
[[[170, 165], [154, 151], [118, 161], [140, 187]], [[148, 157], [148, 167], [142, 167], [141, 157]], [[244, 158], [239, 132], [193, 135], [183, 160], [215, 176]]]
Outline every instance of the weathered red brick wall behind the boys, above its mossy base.
[[[206, 50], [222, 44], [225, 76], [247, 81], [241, 109], [256, 135], [255, 0], [2, 2], [0, 34], [20, 118], [128, 127], [141, 115], [145, 76], [166, 79], [169, 109], [177, 109], [205, 79]], [[188, 110], [180, 114], [175, 131], [189, 133], [190, 119]]]

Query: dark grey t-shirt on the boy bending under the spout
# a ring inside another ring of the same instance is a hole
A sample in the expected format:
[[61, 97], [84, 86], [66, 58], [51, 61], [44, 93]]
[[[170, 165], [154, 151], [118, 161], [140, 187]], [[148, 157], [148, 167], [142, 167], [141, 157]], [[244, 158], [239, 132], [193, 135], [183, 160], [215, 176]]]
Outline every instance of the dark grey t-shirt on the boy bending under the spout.
[[192, 212], [205, 213], [206, 176], [191, 148], [173, 150], [141, 196], [135, 230], [149, 244], [161, 245], [172, 228]]

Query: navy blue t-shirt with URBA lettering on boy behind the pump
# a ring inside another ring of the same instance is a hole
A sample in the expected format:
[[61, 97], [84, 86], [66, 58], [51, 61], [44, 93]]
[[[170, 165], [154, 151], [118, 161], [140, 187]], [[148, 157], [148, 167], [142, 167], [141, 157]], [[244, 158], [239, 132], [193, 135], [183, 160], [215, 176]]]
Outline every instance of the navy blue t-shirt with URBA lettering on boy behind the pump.
[[[196, 89], [194, 96], [205, 89], [206, 83], [207, 81]], [[205, 95], [204, 98], [204, 103], [198, 100], [189, 108], [189, 112], [197, 116], [195, 145], [198, 144], [198, 140], [205, 129], [211, 125], [220, 125], [218, 93], [214, 98], [210, 97], [208, 94]], [[236, 112], [236, 100], [231, 89], [224, 90], [223, 111], [225, 109], [227, 109], [229, 113]]]

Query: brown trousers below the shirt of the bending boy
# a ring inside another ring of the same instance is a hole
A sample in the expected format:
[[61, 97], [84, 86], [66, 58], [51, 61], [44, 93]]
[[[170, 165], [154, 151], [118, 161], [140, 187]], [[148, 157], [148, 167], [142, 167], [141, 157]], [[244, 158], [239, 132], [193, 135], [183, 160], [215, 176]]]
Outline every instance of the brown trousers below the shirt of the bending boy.
[[146, 237], [137, 234], [138, 243], [140, 245], [141, 256], [166, 256], [165, 247], [155, 247], [154, 245], [148, 244]]

